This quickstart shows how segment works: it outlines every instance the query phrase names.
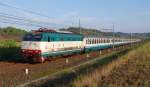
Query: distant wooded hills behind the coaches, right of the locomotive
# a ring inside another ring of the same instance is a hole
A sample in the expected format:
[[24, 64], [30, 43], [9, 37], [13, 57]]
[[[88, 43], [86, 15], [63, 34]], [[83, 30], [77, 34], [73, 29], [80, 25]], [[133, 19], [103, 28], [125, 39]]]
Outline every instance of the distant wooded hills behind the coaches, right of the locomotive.
[[[97, 29], [88, 29], [88, 28], [79, 28], [79, 27], [69, 27], [69, 28], [63, 28], [60, 29], [62, 31], [70, 31], [77, 34], [83, 34], [84, 36], [102, 36], [102, 37], [112, 37], [113, 32], [102, 32]], [[121, 38], [141, 38], [141, 39], [149, 39], [150, 33], [123, 33], [123, 32], [115, 32], [115, 37], [121, 37]]]

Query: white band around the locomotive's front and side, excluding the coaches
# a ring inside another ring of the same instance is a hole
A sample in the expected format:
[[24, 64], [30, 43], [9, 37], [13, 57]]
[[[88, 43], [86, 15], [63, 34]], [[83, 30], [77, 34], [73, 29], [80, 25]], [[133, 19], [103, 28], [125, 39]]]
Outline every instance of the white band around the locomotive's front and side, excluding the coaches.
[[41, 50], [44, 52], [69, 50], [69, 49], [81, 49], [84, 48], [83, 41], [55, 41], [55, 42], [34, 42], [34, 41], [23, 41], [22, 49], [28, 50]]

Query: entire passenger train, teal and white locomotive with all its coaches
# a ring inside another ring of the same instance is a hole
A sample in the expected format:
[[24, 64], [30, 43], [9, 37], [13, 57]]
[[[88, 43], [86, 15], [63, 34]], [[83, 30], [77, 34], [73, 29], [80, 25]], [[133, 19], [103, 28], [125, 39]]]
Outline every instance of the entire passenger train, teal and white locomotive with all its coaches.
[[43, 63], [58, 56], [98, 51], [139, 41], [140, 39], [85, 37], [68, 31], [40, 28], [23, 37], [21, 54], [25, 60]]

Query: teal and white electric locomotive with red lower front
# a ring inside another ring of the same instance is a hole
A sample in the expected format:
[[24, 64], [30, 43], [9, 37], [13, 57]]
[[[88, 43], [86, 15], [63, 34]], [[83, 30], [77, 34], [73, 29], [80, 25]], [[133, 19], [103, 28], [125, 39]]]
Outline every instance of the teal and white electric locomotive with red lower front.
[[48, 58], [80, 53], [84, 49], [83, 38], [71, 32], [39, 29], [23, 38], [22, 55], [25, 60], [44, 62]]

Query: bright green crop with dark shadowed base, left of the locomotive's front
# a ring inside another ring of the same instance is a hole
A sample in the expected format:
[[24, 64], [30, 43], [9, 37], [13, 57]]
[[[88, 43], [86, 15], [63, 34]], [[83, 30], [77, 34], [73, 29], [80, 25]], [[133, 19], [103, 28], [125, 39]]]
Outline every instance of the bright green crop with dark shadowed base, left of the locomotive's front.
[[20, 43], [14, 40], [0, 41], [0, 60], [16, 60], [20, 57]]

